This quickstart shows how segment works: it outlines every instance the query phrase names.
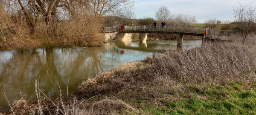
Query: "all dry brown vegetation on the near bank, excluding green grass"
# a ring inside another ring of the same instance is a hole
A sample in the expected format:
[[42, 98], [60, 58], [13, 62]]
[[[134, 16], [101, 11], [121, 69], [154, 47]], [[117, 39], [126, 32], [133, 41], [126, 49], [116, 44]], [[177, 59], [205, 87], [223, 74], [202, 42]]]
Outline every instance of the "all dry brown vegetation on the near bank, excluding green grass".
[[[186, 52], [166, 52], [159, 58], [125, 63], [85, 80], [73, 98], [17, 101], [15, 114], [147, 114], [140, 106], [160, 106], [194, 92], [191, 85], [224, 86], [255, 83], [256, 54], [241, 43], [209, 43]], [[38, 92], [41, 92], [38, 89]], [[182, 93], [179, 93], [182, 92]], [[218, 92], [218, 91], [217, 91]], [[228, 94], [221, 94], [229, 97]], [[74, 98], [76, 97], [76, 98]], [[207, 98], [207, 95], [200, 95]], [[138, 106], [136, 100], [147, 100]], [[9, 114], [12, 114], [12, 110]]]

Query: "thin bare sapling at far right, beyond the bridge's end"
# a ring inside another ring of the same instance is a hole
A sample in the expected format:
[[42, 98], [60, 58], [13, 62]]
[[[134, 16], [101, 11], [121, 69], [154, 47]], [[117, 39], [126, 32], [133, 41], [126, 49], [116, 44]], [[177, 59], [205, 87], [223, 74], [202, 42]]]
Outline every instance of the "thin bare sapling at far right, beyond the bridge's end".
[[242, 35], [242, 42], [245, 43], [256, 23], [256, 5], [239, 3], [239, 6], [233, 8], [233, 20], [239, 26], [238, 31]]

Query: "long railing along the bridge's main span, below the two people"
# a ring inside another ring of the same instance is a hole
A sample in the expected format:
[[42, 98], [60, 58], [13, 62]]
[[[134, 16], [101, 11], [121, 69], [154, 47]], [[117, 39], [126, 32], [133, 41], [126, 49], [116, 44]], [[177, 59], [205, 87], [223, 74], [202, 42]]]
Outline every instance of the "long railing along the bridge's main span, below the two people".
[[125, 30], [143, 30], [143, 31], [170, 31], [170, 32], [189, 32], [204, 33], [207, 27], [202, 26], [175, 26], [175, 25], [126, 25]]

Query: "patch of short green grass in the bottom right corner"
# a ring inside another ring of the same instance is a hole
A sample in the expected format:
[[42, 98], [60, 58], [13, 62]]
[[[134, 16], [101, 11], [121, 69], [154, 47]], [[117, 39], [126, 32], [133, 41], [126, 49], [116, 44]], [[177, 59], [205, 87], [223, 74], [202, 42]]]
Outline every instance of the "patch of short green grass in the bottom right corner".
[[193, 92], [189, 98], [166, 100], [162, 106], [146, 106], [141, 110], [153, 115], [256, 115], [256, 86], [245, 89], [239, 83], [215, 87], [192, 85], [189, 90]]

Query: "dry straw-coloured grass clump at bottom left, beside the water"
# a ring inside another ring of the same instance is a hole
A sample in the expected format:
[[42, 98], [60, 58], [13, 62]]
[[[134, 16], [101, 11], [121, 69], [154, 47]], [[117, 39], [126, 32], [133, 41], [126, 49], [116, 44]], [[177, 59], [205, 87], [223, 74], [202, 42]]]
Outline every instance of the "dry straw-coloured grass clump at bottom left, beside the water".
[[14, 102], [6, 115], [119, 115], [123, 110], [139, 113], [137, 109], [121, 100], [105, 98], [97, 102], [90, 101], [95, 97], [78, 100], [74, 95], [69, 96], [68, 92], [52, 99], [40, 89], [37, 80], [35, 94], [37, 98], [30, 101], [22, 96], [20, 100]]

